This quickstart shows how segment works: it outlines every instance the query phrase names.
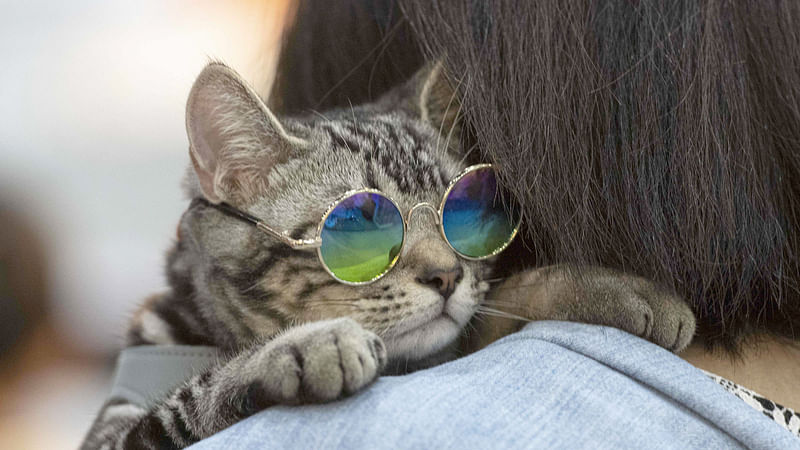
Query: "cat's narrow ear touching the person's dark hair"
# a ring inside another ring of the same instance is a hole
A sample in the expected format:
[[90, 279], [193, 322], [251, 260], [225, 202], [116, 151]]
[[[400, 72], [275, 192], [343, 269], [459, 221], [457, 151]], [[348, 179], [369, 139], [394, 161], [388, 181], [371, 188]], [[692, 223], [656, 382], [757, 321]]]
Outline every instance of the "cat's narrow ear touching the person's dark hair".
[[461, 102], [442, 64], [425, 65], [411, 79], [409, 87], [414, 92], [412, 107], [419, 117], [440, 134], [457, 137], [460, 132]]

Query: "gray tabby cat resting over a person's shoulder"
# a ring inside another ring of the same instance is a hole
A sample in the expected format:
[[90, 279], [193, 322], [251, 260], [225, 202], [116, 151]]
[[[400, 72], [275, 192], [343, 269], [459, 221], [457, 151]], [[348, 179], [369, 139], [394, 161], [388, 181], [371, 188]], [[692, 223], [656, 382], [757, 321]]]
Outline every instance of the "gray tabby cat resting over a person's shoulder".
[[[168, 255], [170, 289], [140, 308], [127, 345], [212, 345], [228, 356], [149, 410], [110, 399], [83, 447], [180, 448], [272, 405], [331, 401], [390, 368], [469, 351], [458, 338], [489, 291], [491, 262], [457, 257], [433, 214], [414, 216], [392, 271], [349, 286], [313, 251], [209, 204], [235, 205], [296, 239], [311, 237], [326, 207], [356, 188], [380, 189], [404, 211], [438, 204], [466, 167], [452, 100], [439, 70], [425, 68], [374, 104], [279, 121], [232, 70], [208, 65], [187, 105], [194, 200]], [[580, 279], [560, 267], [532, 270], [493, 298], [528, 319], [617, 326], [676, 351], [694, 332], [680, 299], [604, 269]], [[486, 334], [515, 327], [501, 321]]]

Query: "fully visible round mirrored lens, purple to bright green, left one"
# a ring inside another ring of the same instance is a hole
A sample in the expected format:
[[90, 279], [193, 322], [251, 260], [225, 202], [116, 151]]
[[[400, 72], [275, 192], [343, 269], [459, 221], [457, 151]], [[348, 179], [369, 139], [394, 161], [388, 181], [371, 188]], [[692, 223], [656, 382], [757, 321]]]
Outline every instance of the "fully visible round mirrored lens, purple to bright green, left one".
[[392, 268], [403, 236], [397, 206], [380, 194], [363, 192], [340, 201], [325, 218], [319, 251], [336, 278], [364, 283]]

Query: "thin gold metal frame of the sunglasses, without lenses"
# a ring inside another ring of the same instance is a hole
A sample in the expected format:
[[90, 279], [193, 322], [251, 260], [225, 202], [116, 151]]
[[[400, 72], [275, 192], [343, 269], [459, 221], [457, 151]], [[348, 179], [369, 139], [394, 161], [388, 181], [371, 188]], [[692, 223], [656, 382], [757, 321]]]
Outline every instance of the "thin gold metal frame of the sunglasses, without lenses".
[[[319, 258], [320, 264], [322, 264], [322, 267], [325, 269], [326, 272], [328, 272], [328, 274], [331, 277], [333, 277], [333, 279], [335, 279], [336, 281], [338, 281], [338, 282], [340, 282], [342, 284], [346, 284], [346, 285], [349, 285], [349, 286], [362, 286], [362, 285], [365, 285], [365, 284], [374, 283], [375, 281], [383, 278], [387, 273], [389, 273], [394, 268], [395, 265], [397, 265], [397, 261], [400, 259], [400, 255], [402, 255], [403, 248], [405, 247], [405, 244], [406, 244], [406, 235], [408, 234], [408, 224], [411, 221], [411, 217], [413, 216], [414, 211], [416, 211], [417, 209], [420, 209], [420, 208], [427, 208], [427, 209], [431, 210], [432, 212], [434, 212], [436, 214], [436, 225], [439, 228], [439, 234], [441, 234], [442, 238], [447, 243], [447, 246], [450, 247], [450, 249], [453, 250], [453, 252], [455, 252], [461, 258], [464, 258], [464, 259], [470, 260], [470, 261], [480, 261], [480, 260], [483, 260], [483, 259], [491, 258], [492, 256], [496, 256], [497, 254], [499, 254], [500, 252], [502, 252], [503, 250], [508, 248], [508, 246], [511, 245], [511, 242], [513, 242], [514, 239], [517, 237], [517, 232], [519, 231], [519, 226], [520, 226], [520, 223], [522, 222], [522, 218], [521, 217], [517, 221], [517, 224], [516, 224], [516, 226], [514, 227], [514, 230], [511, 233], [511, 237], [505, 242], [505, 244], [503, 244], [501, 247], [499, 247], [498, 249], [493, 251], [491, 254], [486, 255], [486, 256], [481, 256], [481, 257], [468, 256], [468, 255], [465, 255], [465, 254], [461, 253], [460, 251], [456, 250], [456, 248], [453, 247], [453, 244], [450, 242], [450, 240], [447, 239], [447, 234], [445, 234], [445, 232], [444, 232], [444, 223], [443, 223], [444, 222], [444, 205], [445, 205], [445, 203], [447, 203], [447, 198], [450, 195], [450, 192], [453, 190], [453, 187], [455, 187], [455, 185], [459, 181], [461, 181], [461, 179], [464, 178], [466, 175], [468, 175], [468, 174], [470, 174], [470, 173], [472, 173], [472, 172], [474, 172], [476, 170], [481, 170], [481, 169], [486, 169], [486, 168], [492, 168], [493, 169], [494, 166], [492, 164], [475, 164], [475, 165], [469, 166], [466, 169], [464, 169], [461, 172], [459, 172], [459, 174], [456, 175], [456, 177], [453, 178], [450, 181], [450, 183], [447, 185], [447, 189], [445, 190], [444, 194], [442, 195], [442, 200], [439, 203], [439, 209], [436, 209], [433, 205], [431, 205], [428, 202], [420, 202], [420, 203], [417, 203], [414, 206], [412, 206], [408, 210], [408, 213], [405, 216], [403, 215], [403, 210], [400, 208], [400, 205], [398, 205], [397, 202], [392, 197], [390, 197], [389, 195], [386, 195], [386, 193], [384, 193], [384, 192], [382, 192], [382, 191], [380, 191], [378, 189], [360, 188], [360, 189], [353, 189], [353, 190], [347, 191], [344, 194], [340, 195], [335, 201], [333, 201], [328, 206], [328, 208], [325, 210], [325, 214], [322, 215], [322, 219], [319, 221], [319, 225], [317, 225], [317, 234], [312, 239], [295, 239], [295, 238], [292, 238], [291, 236], [289, 236], [287, 231], [280, 232], [280, 231], [276, 230], [275, 228], [270, 227], [269, 225], [267, 225], [266, 223], [264, 223], [263, 221], [261, 221], [257, 217], [252, 216], [252, 215], [250, 215], [250, 214], [248, 214], [248, 213], [246, 213], [244, 211], [241, 211], [241, 210], [239, 210], [239, 209], [237, 209], [237, 208], [235, 208], [235, 207], [233, 207], [231, 205], [228, 205], [226, 203], [220, 203], [220, 204], [213, 204], [213, 203], [208, 203], [208, 202], [206, 202], [206, 203], [211, 205], [211, 206], [214, 206], [217, 209], [222, 210], [223, 212], [231, 214], [231, 215], [233, 215], [235, 217], [238, 217], [239, 219], [242, 219], [244, 221], [247, 221], [247, 222], [255, 225], [256, 228], [258, 228], [259, 230], [261, 230], [261, 231], [265, 232], [266, 234], [269, 234], [270, 236], [278, 239], [279, 241], [281, 241], [284, 244], [288, 245], [292, 249], [295, 249], [295, 250], [316, 249], [317, 250], [317, 257]], [[400, 218], [403, 221], [403, 242], [400, 244], [400, 250], [397, 252], [397, 256], [395, 256], [395, 258], [392, 261], [392, 263], [389, 266], [386, 267], [386, 270], [384, 270], [379, 275], [376, 275], [375, 277], [373, 277], [373, 278], [371, 278], [369, 280], [354, 282], [354, 281], [343, 280], [343, 279], [337, 277], [330, 270], [330, 268], [328, 268], [328, 265], [325, 263], [325, 260], [322, 258], [322, 230], [325, 227], [325, 221], [328, 219], [328, 216], [333, 212], [334, 209], [336, 209], [336, 207], [342, 201], [344, 201], [345, 199], [347, 199], [347, 198], [349, 198], [349, 197], [351, 197], [353, 195], [363, 194], [363, 193], [381, 195], [383, 198], [389, 200], [392, 203], [392, 205], [397, 209], [397, 211], [400, 213]]]

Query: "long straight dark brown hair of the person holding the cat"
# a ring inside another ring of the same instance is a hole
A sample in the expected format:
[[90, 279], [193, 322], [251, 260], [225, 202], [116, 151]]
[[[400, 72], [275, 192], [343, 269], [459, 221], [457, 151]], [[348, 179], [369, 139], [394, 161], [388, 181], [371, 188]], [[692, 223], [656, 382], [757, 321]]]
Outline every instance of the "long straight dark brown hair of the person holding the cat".
[[800, 330], [800, 2], [305, 0], [272, 99], [368, 101], [443, 61], [531, 265], [685, 296], [712, 344]]

